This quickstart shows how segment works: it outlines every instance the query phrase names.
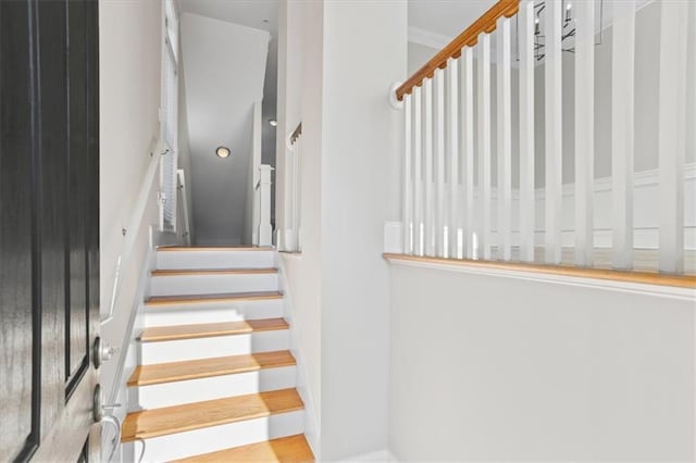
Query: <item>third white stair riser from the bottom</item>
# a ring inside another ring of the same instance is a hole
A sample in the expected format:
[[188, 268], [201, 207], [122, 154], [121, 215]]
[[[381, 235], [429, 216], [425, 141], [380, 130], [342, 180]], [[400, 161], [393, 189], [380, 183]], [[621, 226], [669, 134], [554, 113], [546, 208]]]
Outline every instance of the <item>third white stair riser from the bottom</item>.
[[290, 346], [287, 329], [139, 345], [141, 365], [286, 350]]

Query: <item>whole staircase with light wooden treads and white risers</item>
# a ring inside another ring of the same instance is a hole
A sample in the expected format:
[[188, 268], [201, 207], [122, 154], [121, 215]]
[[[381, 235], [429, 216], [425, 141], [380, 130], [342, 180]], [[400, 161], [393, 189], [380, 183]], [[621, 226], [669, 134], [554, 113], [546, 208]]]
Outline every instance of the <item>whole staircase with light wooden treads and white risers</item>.
[[275, 259], [158, 250], [122, 433], [136, 461], [314, 461]]

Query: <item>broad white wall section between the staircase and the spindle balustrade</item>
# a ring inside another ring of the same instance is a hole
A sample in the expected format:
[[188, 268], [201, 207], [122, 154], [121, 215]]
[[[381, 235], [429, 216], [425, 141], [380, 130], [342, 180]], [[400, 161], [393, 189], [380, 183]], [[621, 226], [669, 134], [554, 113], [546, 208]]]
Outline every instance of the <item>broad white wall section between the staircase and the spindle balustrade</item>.
[[[356, 32], [359, 30], [359, 34]], [[406, 1], [324, 4], [322, 458], [383, 449], [387, 435], [391, 134], [386, 90], [407, 61]], [[385, 59], [389, 57], [389, 59]]]

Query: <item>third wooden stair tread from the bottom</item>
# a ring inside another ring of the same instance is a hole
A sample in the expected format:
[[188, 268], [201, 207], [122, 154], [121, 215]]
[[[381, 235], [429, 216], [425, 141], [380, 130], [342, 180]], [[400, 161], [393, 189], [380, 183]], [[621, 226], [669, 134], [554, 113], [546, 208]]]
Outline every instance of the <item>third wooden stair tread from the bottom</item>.
[[296, 361], [293, 354], [287, 350], [281, 350], [247, 355], [138, 365], [128, 379], [128, 386], [149, 386], [186, 379], [208, 378], [295, 364]]

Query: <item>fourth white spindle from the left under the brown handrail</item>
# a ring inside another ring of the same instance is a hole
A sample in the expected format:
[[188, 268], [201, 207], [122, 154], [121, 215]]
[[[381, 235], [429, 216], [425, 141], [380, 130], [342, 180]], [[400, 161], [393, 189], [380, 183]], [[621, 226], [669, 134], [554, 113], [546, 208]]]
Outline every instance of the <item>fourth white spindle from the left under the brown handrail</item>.
[[445, 207], [445, 75], [435, 70], [435, 188], [437, 190], [437, 255], [445, 252], [445, 228], [447, 226]]

